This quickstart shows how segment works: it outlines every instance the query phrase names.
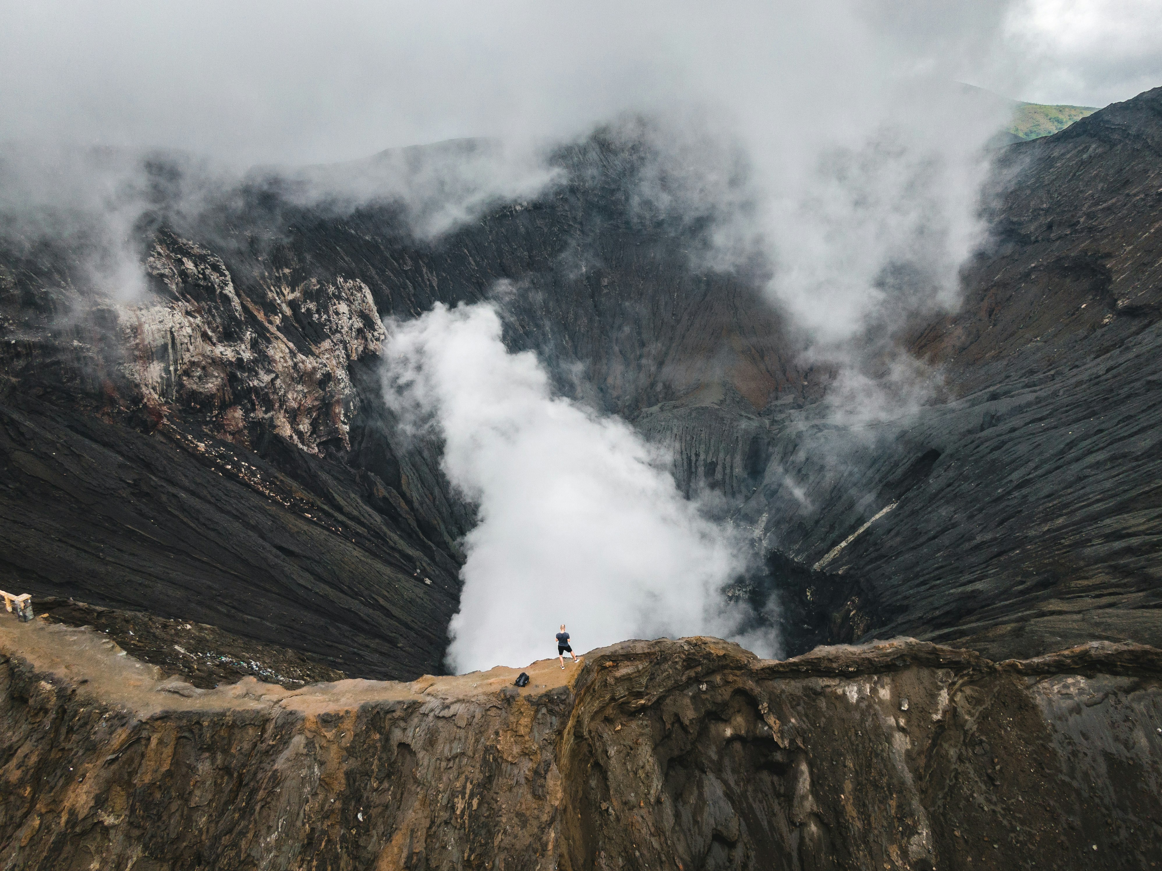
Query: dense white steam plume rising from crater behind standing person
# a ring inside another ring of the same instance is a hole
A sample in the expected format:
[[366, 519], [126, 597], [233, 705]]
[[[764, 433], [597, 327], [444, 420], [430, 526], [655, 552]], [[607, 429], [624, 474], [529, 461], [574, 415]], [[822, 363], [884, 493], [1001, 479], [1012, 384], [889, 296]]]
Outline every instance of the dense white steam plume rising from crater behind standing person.
[[[443, 434], [449, 479], [479, 505], [453, 669], [552, 656], [560, 623], [581, 650], [736, 631], [720, 590], [746, 543], [681, 497], [629, 424], [553, 397], [537, 357], [505, 349], [492, 304], [396, 322], [385, 356], [388, 402]], [[775, 652], [774, 636], [747, 641]]]

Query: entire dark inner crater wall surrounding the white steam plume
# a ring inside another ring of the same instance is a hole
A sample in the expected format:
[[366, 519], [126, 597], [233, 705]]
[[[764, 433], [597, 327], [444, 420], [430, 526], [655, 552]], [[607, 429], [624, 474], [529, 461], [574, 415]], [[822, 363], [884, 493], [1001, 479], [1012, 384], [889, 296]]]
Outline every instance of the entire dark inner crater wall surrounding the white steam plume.
[[539, 199], [435, 242], [390, 205], [294, 206], [277, 179], [195, 219], [163, 191], [135, 304], [92, 288], [84, 241], [9, 234], [5, 583], [352, 676], [438, 671], [472, 512], [439, 445], [393, 429], [380, 319], [508, 279], [509, 344], [674, 444], [680, 486], [765, 538], [749, 595], [777, 597], [791, 651], [901, 633], [994, 657], [1159, 644], [1160, 106], [1155, 90], [1007, 149], [961, 312], [910, 331], [948, 395], [859, 429], [825, 413], [832, 373], [796, 362], [761, 273], [694, 267], [700, 222], [637, 208], [650, 156], [614, 135], [560, 152], [566, 181]]

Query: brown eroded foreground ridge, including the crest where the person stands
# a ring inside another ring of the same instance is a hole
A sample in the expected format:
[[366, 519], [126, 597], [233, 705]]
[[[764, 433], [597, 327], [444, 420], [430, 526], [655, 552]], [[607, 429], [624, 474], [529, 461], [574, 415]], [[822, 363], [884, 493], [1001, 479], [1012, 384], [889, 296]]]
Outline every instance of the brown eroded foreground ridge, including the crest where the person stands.
[[1016, 869], [1162, 859], [1162, 652], [625, 642], [199, 690], [0, 626], [12, 869]]

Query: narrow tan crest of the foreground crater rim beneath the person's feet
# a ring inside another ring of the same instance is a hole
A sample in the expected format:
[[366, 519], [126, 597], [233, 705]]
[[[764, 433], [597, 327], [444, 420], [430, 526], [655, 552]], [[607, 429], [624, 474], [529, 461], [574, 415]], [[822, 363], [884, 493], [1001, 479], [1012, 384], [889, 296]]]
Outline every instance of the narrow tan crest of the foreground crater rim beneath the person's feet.
[[[942, 647], [899, 637], [866, 644], [819, 647], [786, 661], [760, 659], [738, 644], [713, 637], [676, 641], [624, 641], [597, 648], [581, 664], [562, 670], [557, 659], [538, 659], [523, 667], [497, 665], [467, 674], [425, 674], [409, 683], [346, 679], [287, 690], [245, 677], [235, 684], [201, 690], [162, 669], [129, 656], [112, 640], [88, 627], [78, 628], [34, 621], [0, 621], [0, 655], [23, 663], [45, 683], [65, 684], [74, 692], [105, 705], [114, 705], [148, 717], [172, 711], [268, 709], [275, 706], [303, 715], [356, 711], [374, 702], [459, 701], [487, 702], [547, 694], [580, 694], [601, 678], [627, 678], [630, 686], [645, 685], [633, 678], [654, 663], [670, 661], [687, 681], [715, 680], [729, 672], [747, 672], [756, 679], [780, 677], [846, 679], [912, 666], [948, 669], [956, 673], [1009, 671], [1031, 678], [1062, 673], [1162, 674], [1162, 650], [1132, 642], [1090, 642], [1033, 659], [985, 659], [971, 650]], [[514, 681], [528, 672], [529, 684]], [[605, 683], [605, 681], [602, 681]]]

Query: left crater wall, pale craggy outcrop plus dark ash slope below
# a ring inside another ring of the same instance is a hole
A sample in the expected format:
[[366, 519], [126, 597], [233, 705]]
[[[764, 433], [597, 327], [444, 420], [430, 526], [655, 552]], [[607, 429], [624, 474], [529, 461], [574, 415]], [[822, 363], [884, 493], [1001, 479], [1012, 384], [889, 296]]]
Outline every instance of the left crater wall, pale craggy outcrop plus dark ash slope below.
[[[0, 294], [0, 577], [374, 677], [439, 671], [459, 598], [438, 445], [393, 443], [366, 286], [256, 283], [162, 231], [117, 302], [62, 254]], [[248, 294], [249, 292], [249, 294]], [[357, 423], [352, 417], [358, 415]]]

